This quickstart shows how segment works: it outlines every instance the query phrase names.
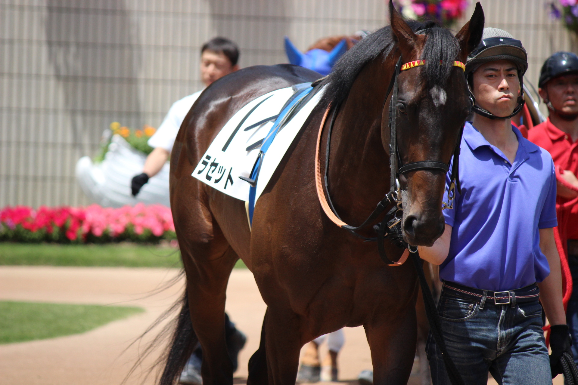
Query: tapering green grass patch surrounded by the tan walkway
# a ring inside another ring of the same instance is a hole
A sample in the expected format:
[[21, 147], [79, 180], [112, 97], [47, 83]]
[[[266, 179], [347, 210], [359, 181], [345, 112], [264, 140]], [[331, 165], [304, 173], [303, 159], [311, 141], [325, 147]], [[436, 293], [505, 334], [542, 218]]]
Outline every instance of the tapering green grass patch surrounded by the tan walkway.
[[0, 301], [0, 343], [83, 333], [142, 308]]

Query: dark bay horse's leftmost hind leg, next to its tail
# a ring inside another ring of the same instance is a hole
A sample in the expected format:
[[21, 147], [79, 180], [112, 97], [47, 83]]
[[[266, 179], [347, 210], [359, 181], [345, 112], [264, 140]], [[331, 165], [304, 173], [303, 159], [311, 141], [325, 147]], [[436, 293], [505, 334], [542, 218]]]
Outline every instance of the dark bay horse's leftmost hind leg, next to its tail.
[[203, 384], [232, 384], [233, 365], [225, 341], [225, 291], [238, 256], [216, 223], [212, 230], [211, 240], [184, 240], [180, 249], [187, 273], [192, 327], [203, 350]]

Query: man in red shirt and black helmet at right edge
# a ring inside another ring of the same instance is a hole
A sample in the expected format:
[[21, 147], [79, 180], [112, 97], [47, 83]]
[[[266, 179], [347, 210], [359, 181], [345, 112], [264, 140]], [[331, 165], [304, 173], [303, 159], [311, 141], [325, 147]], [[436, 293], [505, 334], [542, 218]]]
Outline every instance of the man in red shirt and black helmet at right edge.
[[[557, 203], [564, 204], [578, 197], [578, 56], [570, 52], [551, 55], [542, 66], [538, 87], [550, 116], [529, 130], [528, 139], [552, 155], [561, 177], [557, 184]], [[566, 321], [574, 341], [574, 357], [578, 360], [578, 204], [566, 210], [565, 218], [560, 218], [562, 214], [558, 210], [558, 230], [562, 241], [568, 240], [568, 263], [574, 287]]]

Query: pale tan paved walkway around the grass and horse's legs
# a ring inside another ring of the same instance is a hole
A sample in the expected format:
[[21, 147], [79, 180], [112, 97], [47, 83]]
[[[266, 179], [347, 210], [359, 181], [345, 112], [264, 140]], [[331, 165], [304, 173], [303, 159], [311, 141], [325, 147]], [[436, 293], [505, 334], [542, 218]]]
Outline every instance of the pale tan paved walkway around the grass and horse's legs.
[[[151, 336], [129, 345], [179, 298], [184, 279], [177, 279], [175, 285], [160, 292], [154, 290], [177, 275], [175, 269], [157, 268], [0, 267], [0, 300], [118, 304], [146, 309], [83, 334], [0, 345], [0, 385], [120, 384]], [[249, 357], [259, 345], [265, 313], [250, 271], [232, 272], [227, 312], [248, 338], [235, 373], [235, 383], [240, 384], [246, 379]], [[357, 384], [354, 379], [358, 373], [371, 368], [369, 346], [361, 327], [346, 328], [345, 335], [346, 344], [339, 356], [340, 379], [342, 383]], [[126, 384], [154, 384], [151, 377], [143, 381], [143, 373], [159, 353], [154, 352]], [[418, 383], [417, 376], [410, 378], [409, 384]], [[490, 383], [495, 384], [493, 380]]]

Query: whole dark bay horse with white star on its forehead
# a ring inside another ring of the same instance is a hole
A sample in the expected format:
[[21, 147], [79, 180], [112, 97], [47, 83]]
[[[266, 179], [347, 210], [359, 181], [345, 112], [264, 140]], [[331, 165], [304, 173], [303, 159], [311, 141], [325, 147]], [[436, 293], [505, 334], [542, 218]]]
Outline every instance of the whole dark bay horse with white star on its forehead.
[[[453, 62], [465, 62], [480, 41], [484, 17], [478, 4], [472, 20], [454, 37], [433, 23], [404, 21], [391, 2], [390, 14], [391, 27], [361, 40], [321, 83], [324, 98], [257, 201], [252, 229], [243, 201], [191, 173], [225, 122], [247, 102], [319, 75], [291, 65], [239, 70], [208, 87], [184, 119], [172, 153], [170, 188], [187, 289], [162, 385], [175, 383], [197, 341], [203, 349], [203, 384], [232, 384], [225, 289], [239, 258], [253, 272], [268, 306], [261, 346], [249, 362], [249, 384], [293, 385], [305, 343], [360, 325], [371, 349], [375, 383], [407, 382], [416, 349], [416, 271], [409, 263], [388, 267], [375, 242], [363, 242], [324, 214], [314, 177], [317, 134], [329, 104], [339, 106], [327, 194], [344, 221], [361, 223], [389, 190], [386, 93], [395, 63], [400, 55], [403, 63], [426, 61], [399, 74], [394, 111], [401, 161], [448, 163], [470, 103], [464, 73]], [[403, 238], [412, 245], [432, 245], [444, 229], [446, 175], [417, 170], [399, 179]], [[365, 233], [375, 236], [370, 229]], [[403, 250], [384, 243], [390, 259], [397, 260]]]

